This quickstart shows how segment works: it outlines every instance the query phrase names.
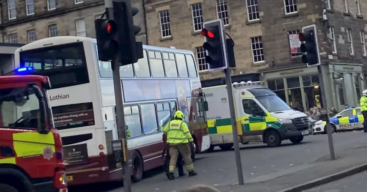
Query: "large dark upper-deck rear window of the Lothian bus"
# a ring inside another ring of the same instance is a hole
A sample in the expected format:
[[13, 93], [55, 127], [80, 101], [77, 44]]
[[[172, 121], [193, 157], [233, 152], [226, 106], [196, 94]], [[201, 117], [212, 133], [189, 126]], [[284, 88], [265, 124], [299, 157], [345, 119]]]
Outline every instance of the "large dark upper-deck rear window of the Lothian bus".
[[51, 89], [89, 83], [82, 42], [32, 49], [19, 53], [21, 67], [50, 78]]

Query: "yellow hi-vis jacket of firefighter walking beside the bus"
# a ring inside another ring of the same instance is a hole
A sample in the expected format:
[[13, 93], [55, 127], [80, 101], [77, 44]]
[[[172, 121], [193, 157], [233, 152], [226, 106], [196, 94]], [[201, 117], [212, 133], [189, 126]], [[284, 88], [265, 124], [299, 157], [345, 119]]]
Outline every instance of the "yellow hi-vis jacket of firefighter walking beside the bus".
[[187, 124], [182, 120], [172, 120], [163, 128], [163, 133], [167, 134], [168, 144], [181, 144], [193, 142]]

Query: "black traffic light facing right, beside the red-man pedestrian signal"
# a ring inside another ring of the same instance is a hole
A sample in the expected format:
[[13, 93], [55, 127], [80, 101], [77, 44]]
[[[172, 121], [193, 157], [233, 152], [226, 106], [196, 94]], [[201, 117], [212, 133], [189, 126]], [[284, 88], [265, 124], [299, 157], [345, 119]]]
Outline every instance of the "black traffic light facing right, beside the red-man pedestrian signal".
[[121, 51], [121, 65], [136, 63], [143, 58], [143, 45], [136, 42], [141, 28], [134, 25], [133, 17], [139, 12], [138, 8], [131, 7], [131, 0], [113, 0], [113, 14], [119, 26], [119, 43]]

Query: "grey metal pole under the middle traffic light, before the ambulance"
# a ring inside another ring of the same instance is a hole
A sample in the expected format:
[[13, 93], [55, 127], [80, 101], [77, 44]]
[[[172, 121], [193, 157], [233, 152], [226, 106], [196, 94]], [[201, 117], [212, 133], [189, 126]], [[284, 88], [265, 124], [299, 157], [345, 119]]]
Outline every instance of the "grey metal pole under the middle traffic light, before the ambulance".
[[235, 147], [235, 158], [236, 158], [236, 167], [237, 167], [237, 177], [238, 184], [243, 185], [243, 174], [242, 174], [242, 164], [241, 164], [241, 154], [240, 154], [240, 146], [238, 142], [238, 133], [236, 127], [236, 113], [235, 113], [235, 104], [233, 103], [233, 92], [232, 92], [232, 79], [230, 77], [230, 69], [224, 69], [226, 73], [226, 84], [227, 84], [227, 94], [229, 100], [229, 113], [230, 113], [230, 121], [232, 124], [232, 135], [233, 135], [233, 146]]

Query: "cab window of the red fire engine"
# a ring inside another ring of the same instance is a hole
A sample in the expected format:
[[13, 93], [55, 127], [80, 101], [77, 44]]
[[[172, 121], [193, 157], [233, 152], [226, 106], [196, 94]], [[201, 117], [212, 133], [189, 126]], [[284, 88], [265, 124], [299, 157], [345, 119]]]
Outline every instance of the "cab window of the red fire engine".
[[39, 100], [33, 89], [0, 89], [0, 125], [9, 128], [37, 128], [40, 123]]

